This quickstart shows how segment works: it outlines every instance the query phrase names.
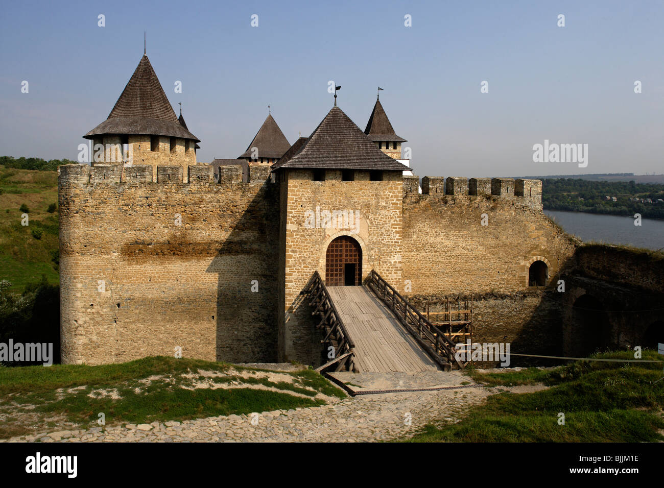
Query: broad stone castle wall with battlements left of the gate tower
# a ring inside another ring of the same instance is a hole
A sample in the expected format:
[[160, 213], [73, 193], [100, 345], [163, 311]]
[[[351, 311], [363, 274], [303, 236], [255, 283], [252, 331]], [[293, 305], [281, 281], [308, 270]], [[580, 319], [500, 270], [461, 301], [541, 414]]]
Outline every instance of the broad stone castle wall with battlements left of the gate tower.
[[276, 361], [279, 195], [268, 167], [252, 167], [252, 183], [235, 166], [220, 183], [208, 165], [189, 167], [189, 183], [179, 165], [160, 167], [159, 183], [141, 165], [59, 171], [63, 363], [175, 347], [210, 361]]

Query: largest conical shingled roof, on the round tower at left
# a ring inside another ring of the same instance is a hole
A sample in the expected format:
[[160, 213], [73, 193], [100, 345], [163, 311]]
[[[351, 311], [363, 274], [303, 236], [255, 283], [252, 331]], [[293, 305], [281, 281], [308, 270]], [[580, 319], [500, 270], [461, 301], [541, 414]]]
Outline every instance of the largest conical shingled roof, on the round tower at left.
[[83, 137], [102, 134], [143, 134], [182, 137], [200, 142], [178, 122], [159, 78], [145, 54], [108, 118]]

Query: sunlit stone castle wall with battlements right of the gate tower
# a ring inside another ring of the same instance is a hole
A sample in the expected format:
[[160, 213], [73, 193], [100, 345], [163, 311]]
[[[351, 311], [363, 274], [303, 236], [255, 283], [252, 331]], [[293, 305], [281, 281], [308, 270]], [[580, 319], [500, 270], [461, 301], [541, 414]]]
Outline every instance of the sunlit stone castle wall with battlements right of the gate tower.
[[528, 288], [533, 261], [546, 263], [552, 282], [574, 252], [542, 212], [537, 180], [521, 181], [535, 189], [528, 197], [515, 196], [509, 179], [494, 178], [491, 194], [479, 195], [469, 195], [466, 179], [448, 178], [444, 185], [438, 177], [424, 177], [420, 195], [417, 181], [404, 177], [403, 279], [410, 280], [410, 293], [519, 291]]

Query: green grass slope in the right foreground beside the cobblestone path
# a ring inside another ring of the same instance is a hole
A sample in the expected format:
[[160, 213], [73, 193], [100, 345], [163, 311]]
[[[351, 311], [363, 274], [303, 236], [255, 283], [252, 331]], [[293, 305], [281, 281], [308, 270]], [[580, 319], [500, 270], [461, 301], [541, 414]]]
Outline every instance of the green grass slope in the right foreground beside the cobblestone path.
[[[633, 353], [596, 358], [633, 359]], [[643, 359], [663, 358], [644, 351]], [[578, 361], [554, 370], [473, 374], [492, 386], [543, 382], [546, 390], [490, 396], [457, 424], [428, 425], [411, 442], [655, 442], [664, 439], [664, 363]], [[558, 414], [564, 414], [564, 425]]]

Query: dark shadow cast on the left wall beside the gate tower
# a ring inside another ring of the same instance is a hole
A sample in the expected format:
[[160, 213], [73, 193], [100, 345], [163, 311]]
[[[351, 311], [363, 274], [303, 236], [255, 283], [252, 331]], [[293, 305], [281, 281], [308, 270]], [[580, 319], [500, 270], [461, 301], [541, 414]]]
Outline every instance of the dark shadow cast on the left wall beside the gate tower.
[[[207, 268], [216, 273], [216, 360], [274, 363], [278, 357], [278, 185], [266, 180], [248, 204], [246, 184], [232, 185], [238, 201], [220, 212], [230, 234]], [[252, 193], [252, 192], [251, 192]]]

